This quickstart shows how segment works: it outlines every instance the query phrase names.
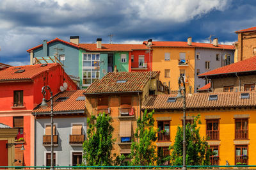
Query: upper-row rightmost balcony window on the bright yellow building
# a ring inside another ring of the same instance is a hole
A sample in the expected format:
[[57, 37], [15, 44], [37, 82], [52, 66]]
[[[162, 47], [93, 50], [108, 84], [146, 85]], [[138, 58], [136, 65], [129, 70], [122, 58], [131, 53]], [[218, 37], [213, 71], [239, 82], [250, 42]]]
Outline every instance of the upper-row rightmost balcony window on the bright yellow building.
[[236, 119], [235, 139], [248, 139], [248, 119]]

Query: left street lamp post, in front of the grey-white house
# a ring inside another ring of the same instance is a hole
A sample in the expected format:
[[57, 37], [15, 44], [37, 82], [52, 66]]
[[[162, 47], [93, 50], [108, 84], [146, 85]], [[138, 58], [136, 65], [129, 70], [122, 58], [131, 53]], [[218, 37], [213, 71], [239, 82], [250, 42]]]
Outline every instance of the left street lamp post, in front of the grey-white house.
[[51, 94], [50, 100], [51, 100], [51, 170], [54, 170], [54, 166], [53, 166], [53, 96], [52, 96], [52, 91], [51, 88], [49, 86], [44, 86], [42, 88], [42, 94], [44, 96], [43, 100], [42, 100], [42, 104], [40, 105], [43, 108], [47, 108], [47, 102], [45, 100], [45, 95], [46, 95], [46, 90], [48, 90]]

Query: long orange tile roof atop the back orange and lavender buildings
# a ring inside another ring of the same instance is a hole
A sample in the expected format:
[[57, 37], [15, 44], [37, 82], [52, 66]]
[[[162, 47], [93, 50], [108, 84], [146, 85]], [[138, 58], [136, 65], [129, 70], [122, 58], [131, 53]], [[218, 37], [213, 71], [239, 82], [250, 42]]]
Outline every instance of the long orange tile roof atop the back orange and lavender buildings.
[[234, 45], [219, 44], [214, 46], [212, 43], [196, 43], [192, 42], [192, 45], [188, 45], [188, 42], [152, 42], [152, 47], [193, 47], [193, 48], [207, 48], [207, 49], [227, 49], [235, 50]]

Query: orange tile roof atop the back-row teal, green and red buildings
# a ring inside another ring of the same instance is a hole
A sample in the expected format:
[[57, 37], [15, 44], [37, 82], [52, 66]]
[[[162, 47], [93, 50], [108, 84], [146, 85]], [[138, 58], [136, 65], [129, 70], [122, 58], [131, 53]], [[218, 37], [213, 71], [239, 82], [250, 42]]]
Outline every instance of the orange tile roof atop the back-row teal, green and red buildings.
[[131, 51], [131, 50], [147, 50], [148, 47], [143, 44], [102, 44], [101, 49], [97, 49], [96, 43], [79, 43], [84, 50], [89, 51]]

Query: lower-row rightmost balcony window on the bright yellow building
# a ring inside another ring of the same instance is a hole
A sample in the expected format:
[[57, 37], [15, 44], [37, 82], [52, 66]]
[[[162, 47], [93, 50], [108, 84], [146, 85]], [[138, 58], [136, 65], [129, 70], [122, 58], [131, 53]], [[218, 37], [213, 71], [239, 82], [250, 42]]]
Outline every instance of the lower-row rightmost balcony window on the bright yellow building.
[[248, 145], [236, 145], [236, 164], [248, 165]]

